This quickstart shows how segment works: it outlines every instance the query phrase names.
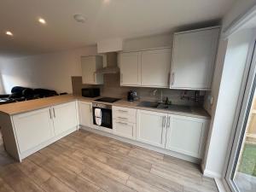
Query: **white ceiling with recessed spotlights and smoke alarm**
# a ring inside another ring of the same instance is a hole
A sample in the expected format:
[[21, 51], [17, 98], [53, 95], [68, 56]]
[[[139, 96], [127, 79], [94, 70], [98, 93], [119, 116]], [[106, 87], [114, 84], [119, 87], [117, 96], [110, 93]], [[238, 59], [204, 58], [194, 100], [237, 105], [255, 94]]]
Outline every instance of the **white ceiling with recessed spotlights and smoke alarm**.
[[[220, 20], [234, 1], [1, 0], [0, 55], [34, 55], [106, 38], [171, 32], [178, 26]], [[75, 14], [84, 15], [85, 22], [73, 20]], [[38, 17], [47, 24], [40, 24]], [[14, 37], [5, 35], [6, 31]]]

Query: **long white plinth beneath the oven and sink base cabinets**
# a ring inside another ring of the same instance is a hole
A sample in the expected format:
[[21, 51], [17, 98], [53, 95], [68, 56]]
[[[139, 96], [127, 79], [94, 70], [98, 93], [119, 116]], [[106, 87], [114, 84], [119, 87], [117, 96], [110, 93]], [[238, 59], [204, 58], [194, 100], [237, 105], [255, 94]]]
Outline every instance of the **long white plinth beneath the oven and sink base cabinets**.
[[124, 142], [124, 143], [130, 143], [130, 144], [142, 147], [142, 148], [148, 148], [149, 150], [153, 150], [153, 151], [159, 152], [161, 154], [166, 154], [166, 155], [169, 155], [169, 156], [172, 156], [172, 157], [176, 157], [178, 159], [187, 160], [187, 161], [195, 163], [195, 164], [200, 164], [201, 163], [201, 160], [199, 160], [195, 157], [190, 157], [190, 156], [185, 155], [185, 154], [178, 154], [176, 152], [169, 151], [169, 150], [166, 150], [166, 149], [163, 149], [163, 148], [157, 148], [157, 147], [154, 147], [154, 146], [151, 146], [151, 145], [148, 145], [148, 144], [145, 144], [145, 143], [140, 143], [140, 142], [137, 142], [137, 141], [125, 138], [125, 137], [119, 137], [119, 136], [113, 135], [113, 134], [105, 132], [105, 131], [99, 131], [99, 130], [96, 130], [96, 129], [93, 129], [93, 128], [90, 128], [90, 127], [85, 127], [85, 126], [80, 126], [79, 128], [82, 129], [82, 130], [85, 130], [85, 131], [94, 132], [94, 133], [102, 135], [102, 136], [111, 137], [113, 139], [119, 140], [119, 141]]

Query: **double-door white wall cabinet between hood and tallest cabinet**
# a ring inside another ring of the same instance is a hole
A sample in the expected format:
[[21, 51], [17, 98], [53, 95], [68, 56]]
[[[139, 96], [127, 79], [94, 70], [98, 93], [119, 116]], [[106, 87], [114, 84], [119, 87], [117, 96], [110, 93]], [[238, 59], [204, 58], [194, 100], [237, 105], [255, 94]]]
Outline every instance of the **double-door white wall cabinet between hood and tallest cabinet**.
[[121, 86], [169, 88], [171, 49], [151, 49], [120, 54]]

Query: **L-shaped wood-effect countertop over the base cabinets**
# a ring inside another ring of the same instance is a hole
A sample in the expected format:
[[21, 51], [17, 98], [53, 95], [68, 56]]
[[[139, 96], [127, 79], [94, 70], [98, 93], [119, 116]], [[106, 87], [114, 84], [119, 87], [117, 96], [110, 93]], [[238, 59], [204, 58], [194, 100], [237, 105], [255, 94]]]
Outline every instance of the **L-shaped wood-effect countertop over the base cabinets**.
[[[37, 110], [40, 108], [47, 108], [50, 106], [55, 106], [65, 102], [73, 102], [76, 100], [84, 101], [84, 102], [95, 102], [97, 98], [101, 98], [101, 96], [96, 98], [88, 98], [83, 96], [76, 96], [76, 95], [63, 95], [63, 96], [51, 96], [42, 99], [35, 99], [26, 102], [14, 102], [9, 104], [0, 105], [0, 113], [6, 113], [9, 115], [15, 115], [18, 113], [25, 113], [33, 110]], [[195, 118], [203, 118], [203, 119], [210, 119], [211, 116], [207, 113], [204, 108], [200, 107], [191, 107], [191, 112], [177, 112], [172, 110], [160, 109], [160, 108], [145, 108], [145, 107], [138, 107], [140, 101], [136, 102], [128, 102], [125, 99], [119, 100], [118, 102], [108, 103], [108, 102], [97, 102], [102, 104], [113, 105], [117, 107], [123, 108], [136, 108], [142, 110], [148, 110], [153, 112], [160, 112], [160, 113], [172, 113], [177, 115], [183, 115], [188, 117], [195, 117]]]

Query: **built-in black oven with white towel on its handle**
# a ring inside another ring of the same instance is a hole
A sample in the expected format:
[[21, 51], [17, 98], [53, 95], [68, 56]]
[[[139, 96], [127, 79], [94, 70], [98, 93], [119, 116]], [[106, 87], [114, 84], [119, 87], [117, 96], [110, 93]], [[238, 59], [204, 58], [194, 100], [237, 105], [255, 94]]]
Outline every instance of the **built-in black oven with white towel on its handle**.
[[93, 102], [92, 109], [93, 124], [102, 128], [107, 128], [106, 131], [112, 131], [112, 106]]

